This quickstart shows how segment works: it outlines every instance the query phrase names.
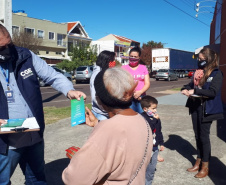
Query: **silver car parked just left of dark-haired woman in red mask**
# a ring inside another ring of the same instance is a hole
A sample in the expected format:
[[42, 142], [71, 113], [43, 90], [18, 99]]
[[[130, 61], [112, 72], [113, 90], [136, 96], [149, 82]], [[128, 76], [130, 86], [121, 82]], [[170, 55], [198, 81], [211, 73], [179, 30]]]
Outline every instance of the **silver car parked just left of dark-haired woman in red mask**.
[[85, 81], [89, 82], [93, 74], [93, 66], [80, 66], [76, 69], [75, 80], [76, 83]]

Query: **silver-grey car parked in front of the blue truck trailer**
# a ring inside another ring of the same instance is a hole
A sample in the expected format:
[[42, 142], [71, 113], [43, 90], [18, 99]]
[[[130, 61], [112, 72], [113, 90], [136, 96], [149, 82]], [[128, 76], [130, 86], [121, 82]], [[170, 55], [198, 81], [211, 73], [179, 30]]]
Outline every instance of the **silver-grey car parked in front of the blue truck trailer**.
[[158, 81], [159, 79], [164, 80], [178, 80], [177, 74], [172, 69], [159, 69], [155, 75], [155, 79]]

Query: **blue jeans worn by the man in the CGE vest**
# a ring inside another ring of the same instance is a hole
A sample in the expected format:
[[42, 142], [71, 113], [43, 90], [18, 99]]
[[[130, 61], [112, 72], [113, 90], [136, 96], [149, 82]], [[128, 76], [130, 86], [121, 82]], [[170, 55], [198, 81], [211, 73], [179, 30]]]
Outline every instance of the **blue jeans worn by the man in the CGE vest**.
[[25, 175], [26, 185], [47, 184], [44, 173], [44, 141], [0, 154], [0, 185], [11, 184], [10, 178], [18, 163]]

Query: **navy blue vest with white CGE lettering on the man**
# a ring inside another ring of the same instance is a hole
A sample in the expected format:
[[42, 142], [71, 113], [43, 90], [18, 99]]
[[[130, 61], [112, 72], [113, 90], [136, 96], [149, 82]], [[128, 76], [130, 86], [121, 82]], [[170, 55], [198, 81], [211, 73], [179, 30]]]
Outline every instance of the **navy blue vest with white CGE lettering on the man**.
[[[39, 134], [43, 137], [43, 131], [45, 128], [44, 123], [44, 113], [42, 105], [42, 96], [39, 86], [39, 81], [37, 79], [37, 74], [32, 64], [32, 55], [28, 49], [16, 47], [18, 59], [13, 61], [13, 69], [15, 79], [17, 81], [18, 88], [30, 107], [34, 117], [40, 126]], [[31, 69], [33, 75], [25, 78], [21, 75], [27, 69]], [[0, 83], [0, 118], [8, 119], [8, 103], [3, 91], [2, 85]], [[36, 138], [31, 132], [32, 140], [35, 142]], [[6, 153], [7, 151], [7, 134], [0, 134], [0, 153]]]

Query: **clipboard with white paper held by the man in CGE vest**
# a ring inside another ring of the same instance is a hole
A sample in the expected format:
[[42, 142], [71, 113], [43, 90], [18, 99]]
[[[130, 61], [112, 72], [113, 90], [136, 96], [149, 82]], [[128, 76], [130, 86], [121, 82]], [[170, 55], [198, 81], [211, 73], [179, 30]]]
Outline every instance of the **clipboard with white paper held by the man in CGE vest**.
[[0, 127], [0, 134], [39, 131], [40, 127], [35, 117], [26, 118], [21, 126]]

